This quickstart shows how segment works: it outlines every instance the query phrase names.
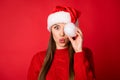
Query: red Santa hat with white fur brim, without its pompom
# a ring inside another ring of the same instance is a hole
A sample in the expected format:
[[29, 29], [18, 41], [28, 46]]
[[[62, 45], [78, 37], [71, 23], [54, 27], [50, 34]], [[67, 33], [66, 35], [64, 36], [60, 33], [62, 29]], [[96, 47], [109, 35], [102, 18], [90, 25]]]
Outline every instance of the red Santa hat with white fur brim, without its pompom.
[[56, 6], [47, 19], [47, 29], [57, 23], [73, 23], [78, 26], [79, 11], [71, 7]]

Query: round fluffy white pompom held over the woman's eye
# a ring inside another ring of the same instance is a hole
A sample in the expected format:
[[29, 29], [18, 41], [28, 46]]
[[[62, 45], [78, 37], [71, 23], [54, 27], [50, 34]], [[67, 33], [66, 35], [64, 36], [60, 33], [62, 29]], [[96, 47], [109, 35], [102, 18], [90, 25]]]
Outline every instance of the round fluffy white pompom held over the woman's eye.
[[64, 26], [64, 32], [66, 35], [70, 37], [75, 37], [76, 36], [76, 26], [73, 23], [67, 23]]

